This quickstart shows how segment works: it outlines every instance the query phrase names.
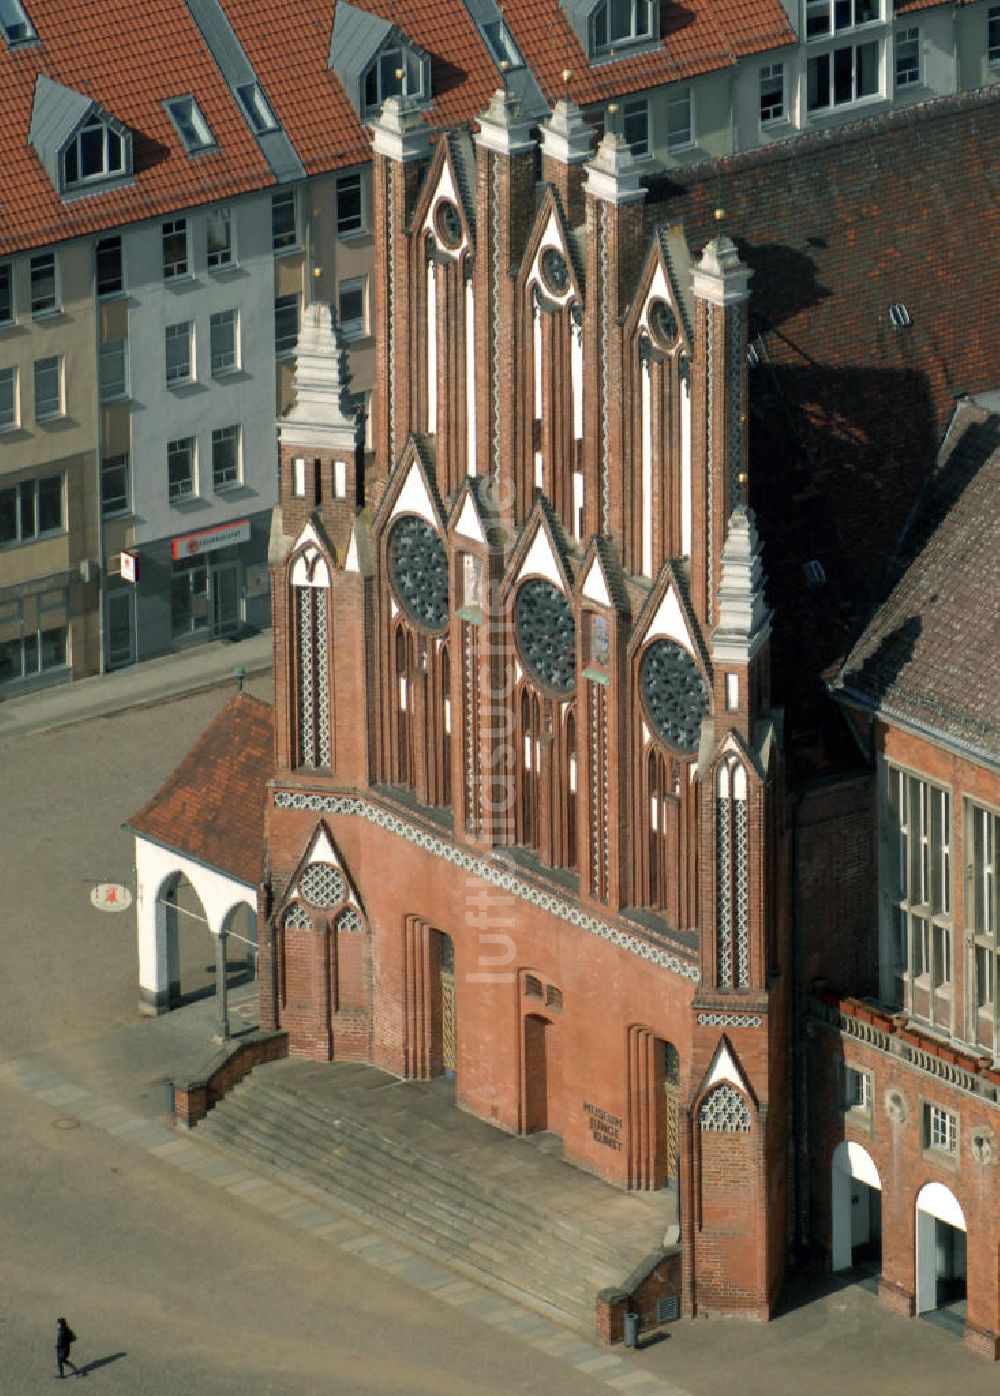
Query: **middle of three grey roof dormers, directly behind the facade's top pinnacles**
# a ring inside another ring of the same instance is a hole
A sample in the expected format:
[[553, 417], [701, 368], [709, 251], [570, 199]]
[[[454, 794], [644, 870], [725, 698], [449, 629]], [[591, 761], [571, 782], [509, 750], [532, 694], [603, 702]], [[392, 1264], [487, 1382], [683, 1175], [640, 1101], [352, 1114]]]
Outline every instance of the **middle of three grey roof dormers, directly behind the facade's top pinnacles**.
[[328, 67], [362, 120], [390, 96], [430, 96], [430, 56], [388, 20], [338, 0]]

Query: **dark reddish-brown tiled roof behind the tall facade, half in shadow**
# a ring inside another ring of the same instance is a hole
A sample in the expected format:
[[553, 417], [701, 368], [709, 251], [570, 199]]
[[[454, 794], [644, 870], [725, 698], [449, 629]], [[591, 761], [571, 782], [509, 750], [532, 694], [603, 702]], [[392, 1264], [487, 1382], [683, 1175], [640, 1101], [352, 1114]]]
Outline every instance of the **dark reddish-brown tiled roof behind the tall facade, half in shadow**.
[[[670, 172], [651, 190], [651, 222], [683, 219], [696, 247], [722, 208], [754, 272], [750, 503], [800, 775], [856, 764], [821, 674], [885, 596], [890, 543], [954, 395], [993, 387], [1000, 262], [971, 250], [996, 226], [999, 141], [1000, 92], [982, 91]], [[807, 578], [810, 561], [825, 581]]]

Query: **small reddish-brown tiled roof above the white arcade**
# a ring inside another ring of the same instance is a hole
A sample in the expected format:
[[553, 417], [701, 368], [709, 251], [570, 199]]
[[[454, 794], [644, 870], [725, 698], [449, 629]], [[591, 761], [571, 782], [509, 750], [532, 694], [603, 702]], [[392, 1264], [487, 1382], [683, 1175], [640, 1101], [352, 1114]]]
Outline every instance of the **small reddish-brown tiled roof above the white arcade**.
[[274, 711], [236, 694], [127, 828], [208, 867], [260, 882]]

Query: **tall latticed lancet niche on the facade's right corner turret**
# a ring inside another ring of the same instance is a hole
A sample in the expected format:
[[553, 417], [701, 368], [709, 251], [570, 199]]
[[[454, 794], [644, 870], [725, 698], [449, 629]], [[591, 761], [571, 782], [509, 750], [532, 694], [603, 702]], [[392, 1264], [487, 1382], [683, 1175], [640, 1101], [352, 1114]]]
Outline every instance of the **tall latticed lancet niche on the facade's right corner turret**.
[[747, 776], [735, 757], [715, 783], [715, 977], [719, 988], [750, 983]]

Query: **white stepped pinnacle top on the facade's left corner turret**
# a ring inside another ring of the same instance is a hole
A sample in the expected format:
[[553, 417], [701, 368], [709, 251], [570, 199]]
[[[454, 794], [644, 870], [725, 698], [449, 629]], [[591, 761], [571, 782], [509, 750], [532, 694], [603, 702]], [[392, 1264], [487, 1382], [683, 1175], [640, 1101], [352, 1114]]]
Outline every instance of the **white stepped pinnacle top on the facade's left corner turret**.
[[[345, 401], [349, 383], [334, 313], [327, 302], [314, 300], [302, 317], [292, 374], [295, 406], [281, 422], [282, 438], [302, 437], [306, 427], [307, 433], [321, 433], [323, 441], [352, 450], [358, 419]], [[316, 440], [318, 443], [320, 437]]]

